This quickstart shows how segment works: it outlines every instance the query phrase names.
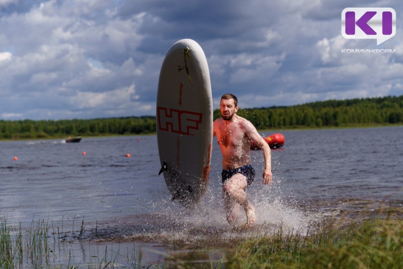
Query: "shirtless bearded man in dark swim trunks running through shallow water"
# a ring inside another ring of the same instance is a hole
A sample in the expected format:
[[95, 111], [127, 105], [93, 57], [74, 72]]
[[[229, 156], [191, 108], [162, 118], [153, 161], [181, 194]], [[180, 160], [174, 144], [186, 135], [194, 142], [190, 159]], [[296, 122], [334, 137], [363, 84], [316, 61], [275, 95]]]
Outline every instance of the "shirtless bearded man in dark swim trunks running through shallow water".
[[260, 137], [253, 124], [236, 114], [238, 100], [232, 94], [221, 97], [220, 110], [222, 118], [213, 123], [213, 137], [223, 153], [223, 191], [227, 220], [233, 223], [238, 216], [239, 205], [245, 210], [247, 225], [251, 227], [256, 221], [255, 210], [246, 198], [245, 189], [254, 179], [255, 172], [250, 161], [250, 142], [253, 141], [262, 151], [265, 161], [263, 184], [272, 182], [272, 155], [270, 147]]

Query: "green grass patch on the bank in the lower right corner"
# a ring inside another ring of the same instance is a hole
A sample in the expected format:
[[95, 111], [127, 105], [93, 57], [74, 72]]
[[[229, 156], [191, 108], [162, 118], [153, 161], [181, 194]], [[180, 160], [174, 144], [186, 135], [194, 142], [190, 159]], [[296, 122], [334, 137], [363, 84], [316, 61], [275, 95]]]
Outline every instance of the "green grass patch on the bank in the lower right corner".
[[279, 229], [244, 242], [227, 259], [231, 268], [402, 268], [403, 220], [389, 216], [339, 227], [333, 219], [307, 235]]

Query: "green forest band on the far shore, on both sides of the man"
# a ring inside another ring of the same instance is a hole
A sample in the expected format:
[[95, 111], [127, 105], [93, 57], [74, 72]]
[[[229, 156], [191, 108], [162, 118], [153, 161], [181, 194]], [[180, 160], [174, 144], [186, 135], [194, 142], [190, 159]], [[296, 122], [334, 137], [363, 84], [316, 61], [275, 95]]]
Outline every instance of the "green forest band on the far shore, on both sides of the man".
[[[238, 115], [258, 129], [357, 127], [403, 124], [403, 95], [329, 100], [286, 107], [240, 108]], [[214, 119], [220, 110], [214, 110]], [[155, 116], [72, 119], [0, 120], [0, 139], [149, 134]]]

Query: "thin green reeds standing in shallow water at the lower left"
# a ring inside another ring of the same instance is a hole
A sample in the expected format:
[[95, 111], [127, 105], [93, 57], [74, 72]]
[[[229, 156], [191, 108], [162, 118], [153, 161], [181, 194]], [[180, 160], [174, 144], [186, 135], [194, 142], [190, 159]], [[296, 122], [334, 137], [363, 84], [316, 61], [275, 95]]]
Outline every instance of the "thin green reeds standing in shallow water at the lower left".
[[[62, 224], [63, 225], [63, 224]], [[74, 224], [73, 224], [74, 225]], [[53, 227], [53, 224], [52, 224]], [[74, 264], [72, 260], [72, 249], [68, 250], [68, 253], [58, 253], [65, 257], [65, 260], [61, 260], [61, 264], [54, 264], [52, 257], [56, 257], [55, 251], [50, 248], [49, 240], [56, 242], [55, 231], [53, 228], [53, 239], [49, 236], [50, 226], [47, 220], [32, 221], [28, 230], [22, 231], [21, 222], [19, 226], [13, 226], [8, 223], [7, 217], [0, 218], [0, 268], [77, 268], [80, 265]], [[74, 226], [73, 226], [74, 229]], [[74, 240], [81, 240], [84, 235], [84, 220], [82, 221], [80, 230], [74, 230], [71, 232], [59, 231], [57, 227], [57, 234], [59, 244], [71, 243]], [[71, 234], [70, 234], [71, 233]], [[60, 236], [61, 235], [61, 236]], [[66, 242], [66, 238], [71, 241]], [[89, 242], [91, 246], [91, 242]], [[91, 253], [89, 257], [89, 263], [86, 265], [88, 268], [141, 268], [142, 251], [136, 249], [134, 244], [132, 249], [127, 251], [121, 251], [120, 247], [113, 248], [113, 245], [105, 246], [105, 253], [101, 256]], [[59, 261], [58, 261], [59, 262]], [[127, 265], [122, 265], [127, 264]]]

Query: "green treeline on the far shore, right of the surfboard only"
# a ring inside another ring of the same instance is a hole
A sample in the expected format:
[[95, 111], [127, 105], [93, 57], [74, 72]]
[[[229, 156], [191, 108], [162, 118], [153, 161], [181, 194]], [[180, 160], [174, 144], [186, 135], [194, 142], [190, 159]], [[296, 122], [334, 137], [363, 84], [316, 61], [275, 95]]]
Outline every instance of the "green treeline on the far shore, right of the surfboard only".
[[[260, 129], [401, 124], [403, 95], [240, 109], [237, 114]], [[215, 111], [218, 116], [220, 111]]]

